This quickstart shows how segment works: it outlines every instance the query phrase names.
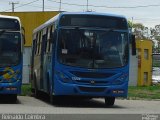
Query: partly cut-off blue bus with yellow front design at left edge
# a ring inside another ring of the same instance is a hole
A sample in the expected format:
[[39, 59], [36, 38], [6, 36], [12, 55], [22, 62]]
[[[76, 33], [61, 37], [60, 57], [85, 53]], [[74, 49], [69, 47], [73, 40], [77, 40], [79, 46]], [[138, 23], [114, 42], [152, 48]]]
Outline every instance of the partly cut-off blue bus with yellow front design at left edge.
[[0, 15], [0, 96], [5, 95], [12, 102], [21, 93], [22, 38], [20, 19]]

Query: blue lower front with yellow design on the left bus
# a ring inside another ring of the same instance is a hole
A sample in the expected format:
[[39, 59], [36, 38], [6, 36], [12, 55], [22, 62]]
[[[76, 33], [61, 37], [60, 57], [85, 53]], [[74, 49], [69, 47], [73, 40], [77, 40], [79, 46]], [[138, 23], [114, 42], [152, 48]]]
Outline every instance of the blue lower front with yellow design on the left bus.
[[0, 68], [0, 73], [0, 94], [21, 94], [22, 62], [18, 66]]

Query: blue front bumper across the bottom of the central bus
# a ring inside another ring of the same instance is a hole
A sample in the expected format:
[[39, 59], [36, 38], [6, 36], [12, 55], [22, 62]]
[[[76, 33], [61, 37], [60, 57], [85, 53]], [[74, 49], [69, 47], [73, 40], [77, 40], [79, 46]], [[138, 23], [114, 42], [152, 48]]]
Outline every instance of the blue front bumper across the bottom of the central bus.
[[63, 83], [57, 80], [54, 85], [54, 95], [76, 95], [89, 97], [127, 97], [128, 81], [121, 85], [98, 86]]

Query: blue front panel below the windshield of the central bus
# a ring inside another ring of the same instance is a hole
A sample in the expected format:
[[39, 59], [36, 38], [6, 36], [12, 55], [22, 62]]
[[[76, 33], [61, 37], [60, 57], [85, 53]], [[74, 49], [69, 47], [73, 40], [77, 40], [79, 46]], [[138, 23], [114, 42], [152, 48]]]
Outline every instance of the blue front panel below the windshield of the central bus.
[[[54, 74], [54, 95], [81, 95], [93, 97], [127, 97], [128, 93], [128, 66], [124, 68], [108, 70], [85, 70], [83, 68], [64, 67], [63, 65], [55, 67]], [[97, 73], [103, 78], [85, 78], [77, 77], [74, 72]], [[66, 77], [61, 77], [63, 74]], [[108, 75], [107, 75], [108, 74]], [[123, 78], [124, 77], [124, 78]]]

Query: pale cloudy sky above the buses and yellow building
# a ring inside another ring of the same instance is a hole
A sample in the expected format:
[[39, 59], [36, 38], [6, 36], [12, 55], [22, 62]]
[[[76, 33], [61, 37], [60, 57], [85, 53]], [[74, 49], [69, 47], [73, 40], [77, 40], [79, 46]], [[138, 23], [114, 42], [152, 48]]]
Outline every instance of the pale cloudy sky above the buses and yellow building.
[[[61, 1], [61, 9], [60, 9]], [[0, 0], [0, 12], [42, 11], [43, 0]], [[87, 0], [44, 0], [44, 11], [82, 12], [87, 10]], [[146, 27], [160, 24], [160, 0], [88, 0], [88, 10], [124, 15], [134, 23]]]

